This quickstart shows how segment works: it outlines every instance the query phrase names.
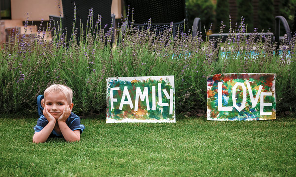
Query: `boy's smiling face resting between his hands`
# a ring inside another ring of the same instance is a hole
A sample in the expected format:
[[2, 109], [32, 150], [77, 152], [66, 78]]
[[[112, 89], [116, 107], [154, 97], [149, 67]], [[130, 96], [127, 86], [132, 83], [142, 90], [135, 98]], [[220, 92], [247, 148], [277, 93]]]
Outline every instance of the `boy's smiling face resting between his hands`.
[[[63, 114], [64, 108], [68, 105], [66, 96], [62, 93], [50, 93], [44, 96], [44, 107], [57, 120]], [[73, 103], [69, 107], [72, 111]]]

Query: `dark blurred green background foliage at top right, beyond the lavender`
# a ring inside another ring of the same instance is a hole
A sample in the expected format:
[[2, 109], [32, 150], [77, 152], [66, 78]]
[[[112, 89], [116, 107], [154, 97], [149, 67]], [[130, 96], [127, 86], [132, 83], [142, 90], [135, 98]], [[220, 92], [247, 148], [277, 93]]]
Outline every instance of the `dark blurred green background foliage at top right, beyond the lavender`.
[[[194, 17], [200, 17], [207, 31], [213, 23], [212, 33], [219, 32], [222, 21], [227, 25], [225, 31], [229, 30], [229, 15], [232, 28], [243, 16], [248, 26], [246, 32], [253, 32], [254, 28], [266, 32], [269, 28], [274, 31], [277, 15], [284, 16], [290, 27], [293, 25], [296, 0], [186, 0], [186, 6], [189, 24]], [[284, 29], [281, 32], [284, 35]]]

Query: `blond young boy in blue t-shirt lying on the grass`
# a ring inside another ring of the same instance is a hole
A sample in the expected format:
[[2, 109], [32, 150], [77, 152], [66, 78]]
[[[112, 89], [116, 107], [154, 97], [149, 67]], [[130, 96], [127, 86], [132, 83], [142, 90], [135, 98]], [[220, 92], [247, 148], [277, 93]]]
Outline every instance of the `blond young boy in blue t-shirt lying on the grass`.
[[44, 91], [43, 115], [34, 127], [33, 142], [45, 142], [50, 135], [64, 137], [66, 141], [80, 140], [80, 134], [85, 129], [80, 124], [80, 118], [72, 113], [72, 90], [64, 85], [54, 84]]

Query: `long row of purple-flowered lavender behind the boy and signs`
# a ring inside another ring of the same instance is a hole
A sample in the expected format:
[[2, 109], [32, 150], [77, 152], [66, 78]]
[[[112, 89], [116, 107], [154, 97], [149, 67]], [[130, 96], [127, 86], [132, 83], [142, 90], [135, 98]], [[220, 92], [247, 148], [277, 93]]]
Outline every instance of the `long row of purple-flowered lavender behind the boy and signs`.
[[[37, 112], [37, 95], [60, 83], [74, 91], [74, 112], [105, 114], [107, 77], [157, 75], [175, 76], [178, 113], [206, 110], [206, 77], [233, 72], [276, 73], [277, 110], [296, 110], [296, 36], [277, 54], [270, 37], [244, 37], [243, 19], [224, 44], [203, 41], [202, 33], [173, 36], [172, 26], [156, 35], [151, 20], [141, 30], [122, 19], [104, 33], [101, 17], [93, 22], [90, 10], [88, 29], [77, 34], [73, 28], [69, 41], [53, 21], [39, 35], [16, 32], [0, 50], [0, 113]], [[224, 28], [222, 23], [221, 33]]]

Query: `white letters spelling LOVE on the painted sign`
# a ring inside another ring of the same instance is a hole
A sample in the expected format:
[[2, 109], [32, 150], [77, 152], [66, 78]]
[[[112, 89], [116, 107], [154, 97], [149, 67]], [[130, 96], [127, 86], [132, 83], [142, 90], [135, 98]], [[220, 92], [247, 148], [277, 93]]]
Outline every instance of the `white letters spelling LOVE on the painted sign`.
[[[245, 84], [246, 84], [247, 88], [246, 88]], [[232, 103], [233, 103], [233, 106], [223, 106], [223, 104], [222, 104], [223, 82], [218, 82], [218, 111], [232, 111], [233, 107], [234, 107], [239, 112], [241, 112], [246, 107], [247, 89], [248, 89], [250, 100], [251, 100], [251, 103], [252, 103], [252, 108], [254, 108], [257, 105], [258, 99], [259, 99], [259, 97], [261, 97], [260, 98], [260, 115], [262, 115], [262, 116], [264, 116], [264, 115], [272, 115], [272, 112], [264, 112], [264, 106], [272, 106], [272, 103], [265, 103], [264, 102], [264, 96], [272, 96], [272, 93], [271, 92], [261, 92], [263, 86], [259, 85], [259, 89], [257, 91], [257, 94], [256, 94], [255, 98], [254, 98], [250, 83], [245, 82], [245, 84], [241, 83], [241, 82], [235, 83], [234, 86], [232, 87]], [[237, 88], [239, 86], [243, 90], [243, 99], [242, 99], [242, 103], [241, 103], [240, 106], [238, 106], [236, 104], [236, 91], [237, 91]]]

